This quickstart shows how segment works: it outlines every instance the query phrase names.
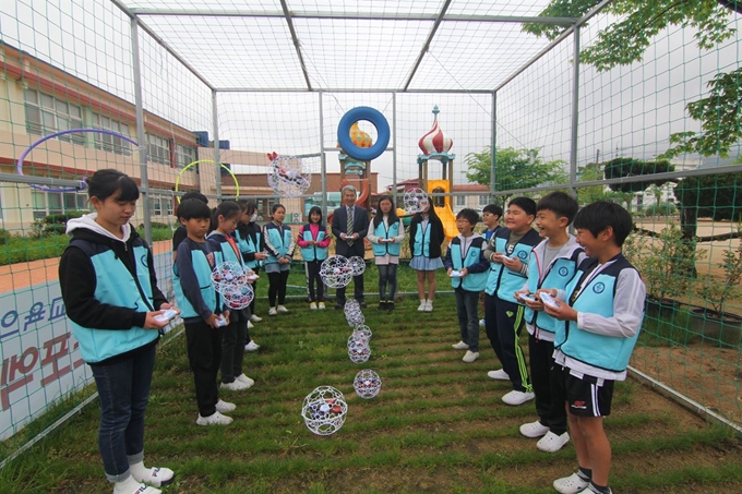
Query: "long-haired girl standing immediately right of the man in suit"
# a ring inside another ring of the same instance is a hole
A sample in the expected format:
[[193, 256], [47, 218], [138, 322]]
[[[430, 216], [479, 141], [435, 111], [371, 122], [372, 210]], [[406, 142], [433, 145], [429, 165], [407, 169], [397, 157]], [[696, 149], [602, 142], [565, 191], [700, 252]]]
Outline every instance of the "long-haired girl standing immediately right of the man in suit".
[[[369, 225], [367, 236], [373, 257], [379, 269], [379, 310], [394, 311], [394, 298], [397, 293], [397, 266], [399, 265], [399, 248], [405, 240], [405, 227], [397, 217], [392, 196], [384, 195], [376, 204], [376, 215]], [[386, 286], [388, 285], [388, 297]]]

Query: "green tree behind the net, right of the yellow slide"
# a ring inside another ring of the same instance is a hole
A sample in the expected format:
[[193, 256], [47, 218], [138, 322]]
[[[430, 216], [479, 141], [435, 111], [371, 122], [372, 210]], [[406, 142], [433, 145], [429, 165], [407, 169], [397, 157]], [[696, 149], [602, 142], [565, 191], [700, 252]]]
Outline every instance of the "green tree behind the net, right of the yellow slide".
[[[496, 148], [494, 190], [534, 189], [546, 183], [566, 182], [566, 164], [561, 159], [543, 161], [538, 154], [538, 149]], [[469, 168], [466, 178], [470, 182], [489, 185], [492, 147], [487, 146], [481, 153], [469, 153], [466, 155], [466, 165]]]

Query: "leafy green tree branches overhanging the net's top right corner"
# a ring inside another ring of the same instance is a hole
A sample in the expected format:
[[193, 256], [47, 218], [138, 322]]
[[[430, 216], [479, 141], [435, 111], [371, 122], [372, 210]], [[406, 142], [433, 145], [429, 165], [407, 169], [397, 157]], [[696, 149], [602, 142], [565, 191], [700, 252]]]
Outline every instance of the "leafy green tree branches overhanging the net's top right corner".
[[[541, 16], [581, 17], [600, 3], [599, 0], [552, 0]], [[732, 12], [742, 13], [740, 0], [615, 0], [605, 12], [623, 20], [602, 29], [597, 41], [581, 52], [581, 60], [595, 65], [599, 72], [617, 65], [642, 60], [650, 38], [671, 27], [692, 27], [696, 31], [698, 48], [709, 50], [731, 38]], [[523, 29], [537, 36], [554, 39], [565, 26], [524, 24]], [[731, 145], [742, 138], [742, 108], [740, 105], [742, 69], [719, 73], [708, 83], [707, 98], [689, 103], [685, 108], [692, 119], [701, 122], [702, 131], [679, 132], [670, 136], [675, 144], [663, 157], [681, 153], [726, 157]]]

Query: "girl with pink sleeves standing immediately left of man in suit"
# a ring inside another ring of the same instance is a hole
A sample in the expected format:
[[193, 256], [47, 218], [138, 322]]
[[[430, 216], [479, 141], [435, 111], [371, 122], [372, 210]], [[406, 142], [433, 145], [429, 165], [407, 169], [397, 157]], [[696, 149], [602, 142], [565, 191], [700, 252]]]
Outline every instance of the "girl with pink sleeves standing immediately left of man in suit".
[[[320, 266], [327, 258], [327, 248], [332, 238], [327, 234], [327, 227], [322, 222], [322, 208], [312, 206], [309, 209], [309, 222], [301, 227], [297, 243], [301, 249], [307, 273], [307, 289], [309, 290], [309, 309], [324, 310], [324, 282], [320, 278]], [[315, 290], [316, 286], [316, 292]]]

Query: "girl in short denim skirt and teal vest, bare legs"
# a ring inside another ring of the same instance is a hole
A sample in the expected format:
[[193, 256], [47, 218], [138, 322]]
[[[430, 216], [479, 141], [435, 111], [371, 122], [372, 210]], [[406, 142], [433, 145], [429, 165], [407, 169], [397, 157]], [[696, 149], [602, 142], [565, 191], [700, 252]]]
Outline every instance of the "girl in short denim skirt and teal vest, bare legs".
[[[435, 297], [435, 270], [443, 267], [441, 261], [441, 244], [445, 239], [443, 222], [430, 207], [412, 216], [409, 224], [409, 249], [412, 260], [409, 267], [417, 272], [418, 296], [420, 305], [418, 312], [433, 312]], [[426, 297], [426, 280], [428, 281], [428, 297]]]

